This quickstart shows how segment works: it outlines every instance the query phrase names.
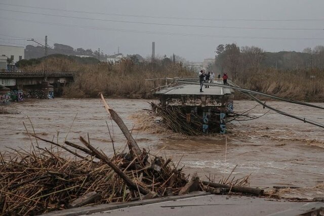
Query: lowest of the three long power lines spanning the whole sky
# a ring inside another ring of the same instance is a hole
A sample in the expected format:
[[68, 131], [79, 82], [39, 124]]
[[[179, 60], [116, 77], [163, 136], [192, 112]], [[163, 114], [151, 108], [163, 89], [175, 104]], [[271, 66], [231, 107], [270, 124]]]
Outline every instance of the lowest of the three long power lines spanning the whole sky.
[[194, 36], [194, 37], [216, 37], [216, 38], [247, 38], [247, 39], [275, 39], [275, 40], [323, 40], [324, 38], [312, 38], [312, 37], [257, 37], [257, 36], [232, 36], [232, 35], [209, 35], [209, 34], [191, 34], [191, 33], [172, 33], [172, 32], [159, 32], [159, 31], [140, 31], [140, 30], [129, 30], [129, 29], [117, 29], [117, 28], [104, 28], [104, 27], [93, 27], [93, 26], [83, 26], [83, 25], [71, 25], [62, 23], [52, 23], [43, 21], [33, 21], [26, 19], [16, 19], [16, 18], [0, 18], [5, 20], [15, 20], [21, 22], [46, 24], [46, 25], [57, 25], [66, 26], [73, 28], [84, 28], [84, 29], [95, 29], [95, 30], [106, 30], [106, 31], [117, 31], [117, 32], [133, 32], [133, 33], [145, 33], [145, 34], [156, 34], [156, 35], [173, 35], [173, 36]]

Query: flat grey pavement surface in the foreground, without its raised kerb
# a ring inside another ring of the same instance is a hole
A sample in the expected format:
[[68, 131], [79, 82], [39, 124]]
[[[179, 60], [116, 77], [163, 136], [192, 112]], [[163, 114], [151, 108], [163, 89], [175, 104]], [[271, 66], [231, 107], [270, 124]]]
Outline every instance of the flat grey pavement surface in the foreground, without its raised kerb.
[[299, 215], [324, 208], [320, 202], [285, 202], [255, 197], [209, 195], [143, 206], [115, 209], [93, 215]]

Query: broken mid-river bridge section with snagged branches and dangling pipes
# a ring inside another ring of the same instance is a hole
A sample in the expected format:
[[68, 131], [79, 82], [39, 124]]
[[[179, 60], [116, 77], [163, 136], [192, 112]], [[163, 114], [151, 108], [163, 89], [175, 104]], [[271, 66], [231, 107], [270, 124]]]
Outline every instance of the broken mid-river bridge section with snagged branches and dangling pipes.
[[[209, 85], [209, 88], [205, 88], [204, 92], [199, 92], [197, 78], [165, 78], [165, 80], [166, 85], [153, 90], [153, 95], [159, 99], [160, 104], [151, 103], [151, 105], [175, 132], [186, 135], [226, 133], [226, 117], [233, 117], [234, 90], [261, 104], [263, 108], [324, 128], [323, 124], [316, 121], [273, 108], [256, 96], [324, 109], [321, 106], [240, 88], [231, 81], [228, 81], [229, 85], [224, 85], [220, 79], [216, 79], [213, 83], [205, 83], [204, 85]], [[167, 84], [168, 80], [171, 80], [170, 84]]]

